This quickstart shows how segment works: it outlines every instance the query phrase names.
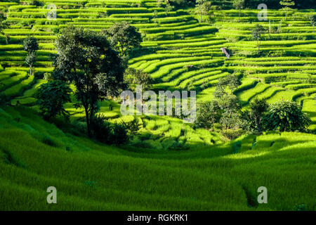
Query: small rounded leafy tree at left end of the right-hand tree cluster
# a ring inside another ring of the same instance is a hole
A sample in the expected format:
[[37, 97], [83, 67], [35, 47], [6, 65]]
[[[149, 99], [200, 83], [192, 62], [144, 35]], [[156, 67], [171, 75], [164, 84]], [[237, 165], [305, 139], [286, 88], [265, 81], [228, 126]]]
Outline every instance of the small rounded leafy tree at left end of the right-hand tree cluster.
[[197, 107], [197, 120], [195, 120], [195, 125], [214, 131], [214, 124], [220, 121], [222, 113], [218, 101], [200, 103]]

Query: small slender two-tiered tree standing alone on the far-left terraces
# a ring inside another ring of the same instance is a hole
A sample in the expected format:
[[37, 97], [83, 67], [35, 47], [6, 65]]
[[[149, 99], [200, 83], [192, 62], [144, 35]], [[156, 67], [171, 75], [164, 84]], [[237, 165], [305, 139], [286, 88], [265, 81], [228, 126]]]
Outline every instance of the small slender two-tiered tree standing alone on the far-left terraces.
[[29, 75], [32, 75], [32, 68], [37, 60], [36, 51], [39, 49], [39, 44], [35, 37], [27, 37], [23, 41], [23, 48], [27, 51], [27, 57], [25, 58], [25, 63], [29, 65]]

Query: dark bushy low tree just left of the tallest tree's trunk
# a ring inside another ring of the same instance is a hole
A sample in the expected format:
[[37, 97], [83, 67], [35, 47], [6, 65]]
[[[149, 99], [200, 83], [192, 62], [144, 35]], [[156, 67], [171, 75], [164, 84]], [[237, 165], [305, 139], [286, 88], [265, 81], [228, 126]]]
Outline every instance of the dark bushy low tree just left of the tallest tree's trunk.
[[70, 93], [72, 90], [69, 86], [60, 80], [41, 84], [35, 98], [39, 103], [39, 110], [44, 118], [51, 119], [57, 115], [69, 118], [69, 113], [65, 110], [64, 104], [70, 102]]

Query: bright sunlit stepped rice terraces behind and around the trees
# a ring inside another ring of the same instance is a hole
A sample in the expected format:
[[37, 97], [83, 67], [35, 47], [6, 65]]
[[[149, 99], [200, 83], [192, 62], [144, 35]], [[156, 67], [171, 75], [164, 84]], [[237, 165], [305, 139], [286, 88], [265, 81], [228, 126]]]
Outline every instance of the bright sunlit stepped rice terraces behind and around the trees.
[[[214, 21], [209, 24], [199, 23], [197, 15], [192, 15], [189, 9], [165, 13], [165, 3], [157, 6], [156, 0], [41, 2], [44, 6], [1, 3], [7, 11], [8, 22], [14, 25], [4, 30], [10, 35], [9, 44], [4, 36], [0, 37], [0, 59], [5, 68], [0, 72], [0, 89], [13, 98], [14, 105], [34, 105], [37, 108], [33, 94], [44, 82], [44, 72], [53, 70], [51, 54], [55, 53], [54, 41], [63, 27], [72, 24], [100, 31], [124, 20], [143, 34], [142, 48], [134, 51], [129, 65], [148, 72], [154, 79], [153, 89], [156, 91], [196, 90], [198, 102], [209, 101], [220, 77], [242, 72], [243, 84], [236, 94], [244, 107], [260, 97], [270, 103], [280, 99], [294, 100], [301, 103], [306, 112], [316, 111], [312, 98], [316, 93], [316, 38], [309, 21], [315, 10], [290, 11], [287, 21], [284, 21], [282, 11], [269, 10], [268, 21], [262, 22], [258, 21], [257, 10], [244, 10], [242, 23], [238, 23], [238, 11], [211, 11]], [[55, 4], [56, 20], [46, 18], [50, 11], [46, 7], [48, 4]], [[224, 8], [231, 7], [231, 2], [227, 1]], [[256, 41], [251, 40], [251, 29], [256, 23], [270, 31], [262, 41], [261, 57], [256, 54]], [[40, 43], [34, 77], [27, 76], [26, 52], [21, 45], [28, 35], [33, 35]], [[230, 51], [230, 59], [220, 51], [223, 47]], [[114, 110], [109, 111], [109, 104], [102, 103], [101, 111], [111, 120], [117, 120], [120, 117], [119, 105], [112, 103]], [[68, 105], [68, 110], [75, 119], [83, 115], [72, 105]], [[140, 120], [145, 124], [142, 141], [147, 140], [154, 148], [168, 148], [162, 147], [166, 137], [190, 142], [187, 136], [192, 133], [204, 146], [216, 138], [210, 134], [201, 139], [197, 131], [190, 131], [190, 126], [186, 125], [182, 128], [187, 133], [178, 136], [175, 127], [181, 127], [180, 120], [169, 117], [159, 120], [141, 117]], [[315, 129], [315, 126], [316, 120], [312, 117], [310, 129]], [[164, 133], [164, 138], [157, 137], [152, 142], [150, 137], [159, 132]]]

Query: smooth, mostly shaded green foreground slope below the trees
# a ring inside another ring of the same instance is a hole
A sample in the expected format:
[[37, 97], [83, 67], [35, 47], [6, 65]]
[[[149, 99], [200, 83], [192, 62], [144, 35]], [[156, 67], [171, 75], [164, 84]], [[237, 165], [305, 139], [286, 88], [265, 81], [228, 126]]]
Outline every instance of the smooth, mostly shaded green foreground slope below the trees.
[[[36, 114], [0, 109], [0, 210], [315, 210], [315, 135], [142, 153], [64, 133]], [[57, 205], [46, 203], [48, 186]], [[256, 202], [259, 186], [268, 204]]]

